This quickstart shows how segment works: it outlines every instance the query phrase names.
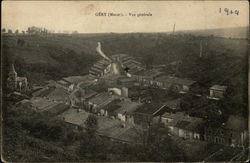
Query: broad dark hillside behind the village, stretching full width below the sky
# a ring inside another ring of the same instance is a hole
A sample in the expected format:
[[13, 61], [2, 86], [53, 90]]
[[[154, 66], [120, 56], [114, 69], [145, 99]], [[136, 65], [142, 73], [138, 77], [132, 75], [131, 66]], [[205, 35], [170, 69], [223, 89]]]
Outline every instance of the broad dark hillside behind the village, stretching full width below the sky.
[[[18, 44], [18, 40], [23, 40], [24, 45]], [[27, 76], [34, 83], [69, 75], [83, 75], [101, 57], [95, 51], [98, 41], [102, 43], [107, 55], [126, 53], [137, 57], [146, 65], [182, 60], [184, 62], [179, 75], [194, 80], [200, 80], [203, 74], [210, 74], [207, 76], [213, 78], [212, 83], [224, 82], [225, 78], [241, 78], [242, 73], [244, 74], [242, 69], [246, 66], [248, 42], [244, 39], [190, 34], [110, 33], [3, 36], [4, 70], [8, 70], [10, 63], [15, 63], [18, 74]], [[203, 60], [199, 60], [201, 41], [203, 54], [207, 56]], [[216, 62], [215, 67], [211, 69], [212, 64], [209, 62]], [[199, 69], [203, 70], [197, 73]], [[4, 71], [5, 78], [7, 72]]]

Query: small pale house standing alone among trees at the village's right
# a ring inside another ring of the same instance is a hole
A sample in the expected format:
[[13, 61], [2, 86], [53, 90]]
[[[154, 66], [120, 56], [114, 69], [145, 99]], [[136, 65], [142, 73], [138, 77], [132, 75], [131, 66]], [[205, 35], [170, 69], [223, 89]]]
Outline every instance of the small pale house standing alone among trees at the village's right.
[[227, 90], [227, 86], [223, 85], [213, 85], [209, 88], [209, 96], [212, 99], [221, 99], [224, 98], [224, 94]]

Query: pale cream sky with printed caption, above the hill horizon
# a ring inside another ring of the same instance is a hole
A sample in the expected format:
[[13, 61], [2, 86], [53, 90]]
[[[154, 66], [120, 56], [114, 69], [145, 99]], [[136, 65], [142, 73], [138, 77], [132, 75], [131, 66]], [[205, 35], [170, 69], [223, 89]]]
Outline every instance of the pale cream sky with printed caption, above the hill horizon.
[[[225, 8], [234, 13], [227, 15]], [[99, 12], [123, 16], [96, 16]], [[127, 33], [168, 32], [174, 24], [176, 31], [245, 27], [248, 21], [247, 1], [4, 1], [1, 23], [12, 30], [37, 26], [56, 32]]]

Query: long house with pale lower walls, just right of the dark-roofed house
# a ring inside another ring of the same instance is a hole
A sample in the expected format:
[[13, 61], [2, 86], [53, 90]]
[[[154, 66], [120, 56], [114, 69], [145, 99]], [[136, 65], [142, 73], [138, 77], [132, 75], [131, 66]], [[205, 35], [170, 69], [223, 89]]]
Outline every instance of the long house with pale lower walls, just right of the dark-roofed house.
[[202, 118], [191, 117], [183, 112], [166, 112], [161, 116], [161, 123], [168, 127], [173, 135], [184, 139], [203, 140]]

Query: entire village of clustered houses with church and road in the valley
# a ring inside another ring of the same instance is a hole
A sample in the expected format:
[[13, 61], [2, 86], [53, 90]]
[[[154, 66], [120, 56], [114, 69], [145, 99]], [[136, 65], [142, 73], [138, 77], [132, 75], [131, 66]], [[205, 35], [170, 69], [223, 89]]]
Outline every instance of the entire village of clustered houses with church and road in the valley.
[[[44, 86], [29, 85], [12, 65], [8, 76], [8, 87], [13, 90], [10, 96], [24, 96], [16, 105], [52, 114], [76, 131], [85, 128], [89, 115], [95, 115], [100, 124], [98, 135], [121, 143], [143, 144], [141, 133], [153, 124], [162, 124], [166, 133], [182, 145], [213, 143], [247, 148], [247, 122], [243, 117], [230, 115], [215, 121], [215, 117], [223, 117], [223, 111], [208, 110], [209, 105], [225, 98], [226, 85], [211, 85], [204, 93], [196, 81], [161, 71], [165, 65], [147, 69], [127, 54], [108, 57], [100, 42], [96, 51], [102, 59], [89, 74], [50, 80]], [[175, 67], [176, 62], [171, 65]], [[31, 98], [24, 95], [27, 89], [32, 90]], [[185, 100], [190, 97], [193, 100]], [[243, 157], [241, 150], [236, 155]]]

